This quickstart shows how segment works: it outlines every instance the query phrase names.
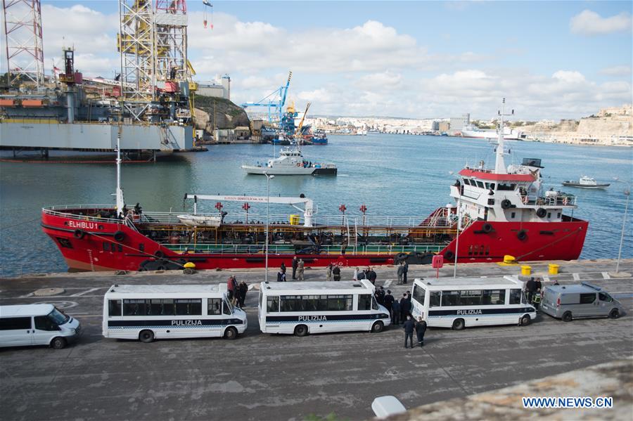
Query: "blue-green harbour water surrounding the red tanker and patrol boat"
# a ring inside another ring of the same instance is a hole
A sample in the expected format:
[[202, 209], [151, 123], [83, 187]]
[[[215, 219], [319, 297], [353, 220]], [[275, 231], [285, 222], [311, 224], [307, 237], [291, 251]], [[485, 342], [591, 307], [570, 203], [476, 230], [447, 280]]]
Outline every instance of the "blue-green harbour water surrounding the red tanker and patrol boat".
[[[506, 164], [520, 163], [523, 157], [542, 158], [545, 187], [577, 195], [579, 209], [574, 216], [589, 220], [581, 258], [617, 257], [626, 197], [625, 184], [613, 177], [632, 180], [633, 150], [531, 142], [511, 142], [509, 147]], [[266, 195], [266, 178], [247, 176], [239, 166], [271, 157], [272, 145], [209, 148], [206, 153], [182, 155], [175, 162], [125, 164], [126, 202], [140, 202], [146, 211], [181, 212], [184, 193]], [[329, 145], [306, 146], [303, 152], [307, 160], [335, 162], [338, 176], [276, 177], [270, 193], [305, 193], [318, 205], [319, 215], [339, 214], [341, 204], [347, 206], [348, 214], [359, 214], [360, 205], [365, 204], [368, 215], [424, 219], [436, 207], [451, 202], [449, 186], [454, 176], [449, 171], [480, 160], [490, 166], [494, 163], [486, 141], [436, 136], [330, 136]], [[41, 207], [113, 203], [115, 174], [115, 165], [108, 163], [0, 163], [0, 275], [66, 271], [56, 245], [41, 232]], [[610, 181], [611, 186], [606, 190], [561, 186], [561, 181], [584, 174]], [[199, 209], [215, 212], [214, 205], [201, 204]], [[231, 213], [243, 212], [239, 202], [223, 205]], [[265, 214], [266, 209], [252, 205], [250, 212]], [[271, 213], [297, 212], [271, 207]], [[631, 226], [628, 222], [625, 228], [622, 257], [633, 257]]]

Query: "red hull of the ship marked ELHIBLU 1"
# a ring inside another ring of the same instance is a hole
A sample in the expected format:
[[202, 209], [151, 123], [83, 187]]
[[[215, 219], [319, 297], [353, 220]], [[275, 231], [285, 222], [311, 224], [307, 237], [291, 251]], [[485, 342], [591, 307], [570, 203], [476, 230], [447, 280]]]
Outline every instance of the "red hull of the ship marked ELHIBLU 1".
[[[89, 214], [90, 209], [84, 214]], [[108, 219], [82, 221], [77, 216], [42, 212], [44, 233], [56, 243], [72, 271], [143, 271], [181, 269], [191, 261], [198, 269], [263, 268], [265, 255], [252, 253], [177, 253], [122, 222]], [[503, 261], [510, 254], [518, 261], [573, 260], [580, 257], [587, 221], [568, 218], [562, 222], [515, 223], [477, 221], [459, 235], [459, 263]], [[526, 235], [519, 235], [525, 232]], [[522, 237], [520, 239], [519, 237]], [[456, 238], [440, 251], [445, 261], [454, 261]], [[261, 248], [261, 247], [260, 247]], [[269, 253], [269, 267], [288, 264], [295, 254]], [[297, 254], [306, 266], [380, 266], [406, 259], [410, 264], [430, 264], [433, 253], [353, 254], [337, 252]]]

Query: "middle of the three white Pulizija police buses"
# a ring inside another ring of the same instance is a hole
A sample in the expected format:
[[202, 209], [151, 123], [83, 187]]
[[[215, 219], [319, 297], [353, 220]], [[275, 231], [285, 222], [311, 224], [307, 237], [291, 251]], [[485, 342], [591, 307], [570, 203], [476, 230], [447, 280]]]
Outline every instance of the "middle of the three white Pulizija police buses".
[[359, 282], [261, 283], [258, 316], [264, 333], [365, 330], [390, 325], [389, 311], [373, 297], [369, 280]]

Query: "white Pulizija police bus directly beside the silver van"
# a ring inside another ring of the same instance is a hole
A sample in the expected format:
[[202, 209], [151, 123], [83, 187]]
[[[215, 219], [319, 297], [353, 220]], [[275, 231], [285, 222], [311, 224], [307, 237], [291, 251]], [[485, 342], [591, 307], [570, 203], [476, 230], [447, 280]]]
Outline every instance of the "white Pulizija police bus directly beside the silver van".
[[430, 327], [461, 330], [466, 326], [528, 325], [536, 309], [513, 276], [416, 279], [411, 296], [414, 317]]

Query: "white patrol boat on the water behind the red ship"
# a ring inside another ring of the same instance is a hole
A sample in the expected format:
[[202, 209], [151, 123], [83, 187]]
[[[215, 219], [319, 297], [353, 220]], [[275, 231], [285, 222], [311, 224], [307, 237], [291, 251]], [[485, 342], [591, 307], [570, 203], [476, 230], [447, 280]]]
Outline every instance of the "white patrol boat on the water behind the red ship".
[[247, 174], [275, 175], [275, 176], [316, 176], [336, 175], [335, 164], [326, 162], [311, 162], [302, 155], [296, 143], [290, 148], [283, 148], [279, 157], [268, 160], [265, 164], [242, 165]]

